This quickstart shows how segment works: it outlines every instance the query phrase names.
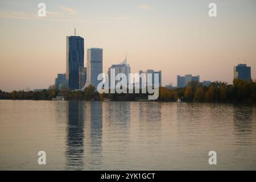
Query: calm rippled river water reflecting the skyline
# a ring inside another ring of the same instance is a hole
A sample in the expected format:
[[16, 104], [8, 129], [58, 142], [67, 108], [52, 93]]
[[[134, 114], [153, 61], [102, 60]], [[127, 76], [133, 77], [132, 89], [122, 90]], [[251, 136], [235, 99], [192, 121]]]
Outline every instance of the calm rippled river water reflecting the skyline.
[[256, 107], [0, 100], [0, 147], [0, 169], [255, 170]]

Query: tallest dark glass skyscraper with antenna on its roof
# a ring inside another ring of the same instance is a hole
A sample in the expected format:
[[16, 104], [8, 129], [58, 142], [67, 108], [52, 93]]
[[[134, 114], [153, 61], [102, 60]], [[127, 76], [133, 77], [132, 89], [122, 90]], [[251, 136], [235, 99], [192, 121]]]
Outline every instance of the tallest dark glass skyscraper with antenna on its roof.
[[68, 88], [79, 89], [79, 68], [84, 68], [84, 38], [67, 36], [67, 80]]

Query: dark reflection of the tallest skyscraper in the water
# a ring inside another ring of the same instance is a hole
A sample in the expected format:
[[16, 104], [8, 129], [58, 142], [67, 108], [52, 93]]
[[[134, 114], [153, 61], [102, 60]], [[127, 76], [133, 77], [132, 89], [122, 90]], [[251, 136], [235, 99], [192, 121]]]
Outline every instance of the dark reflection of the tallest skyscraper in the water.
[[82, 169], [84, 166], [84, 102], [68, 101], [67, 150], [68, 169]]

